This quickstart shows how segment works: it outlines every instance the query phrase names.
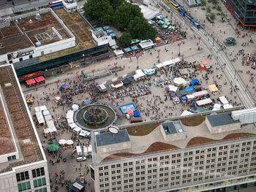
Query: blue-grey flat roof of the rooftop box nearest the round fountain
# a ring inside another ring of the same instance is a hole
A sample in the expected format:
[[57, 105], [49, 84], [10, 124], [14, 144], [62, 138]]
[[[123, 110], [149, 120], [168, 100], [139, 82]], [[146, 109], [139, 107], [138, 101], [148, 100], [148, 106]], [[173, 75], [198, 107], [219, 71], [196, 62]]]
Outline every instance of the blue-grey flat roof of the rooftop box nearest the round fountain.
[[97, 147], [105, 145], [113, 145], [121, 142], [129, 142], [129, 135], [127, 130], [121, 130], [118, 134], [96, 134]]

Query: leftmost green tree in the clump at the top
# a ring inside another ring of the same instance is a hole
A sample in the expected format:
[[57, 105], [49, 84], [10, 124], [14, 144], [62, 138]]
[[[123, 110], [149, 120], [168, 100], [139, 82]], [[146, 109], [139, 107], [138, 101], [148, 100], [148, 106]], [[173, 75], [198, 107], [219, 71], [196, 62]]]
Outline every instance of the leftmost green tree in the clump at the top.
[[99, 19], [102, 23], [107, 24], [112, 20], [113, 7], [109, 0], [88, 0], [84, 5], [84, 15], [92, 19]]

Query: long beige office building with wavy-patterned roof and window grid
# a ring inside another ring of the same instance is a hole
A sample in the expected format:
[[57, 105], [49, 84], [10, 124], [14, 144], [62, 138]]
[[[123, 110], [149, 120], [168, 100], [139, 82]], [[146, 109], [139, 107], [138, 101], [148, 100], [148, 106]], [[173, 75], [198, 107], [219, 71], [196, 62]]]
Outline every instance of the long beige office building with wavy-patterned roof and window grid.
[[[93, 131], [95, 191], [228, 191], [256, 184], [256, 110]], [[142, 136], [143, 133], [148, 134]], [[149, 133], [150, 132], [150, 133]]]

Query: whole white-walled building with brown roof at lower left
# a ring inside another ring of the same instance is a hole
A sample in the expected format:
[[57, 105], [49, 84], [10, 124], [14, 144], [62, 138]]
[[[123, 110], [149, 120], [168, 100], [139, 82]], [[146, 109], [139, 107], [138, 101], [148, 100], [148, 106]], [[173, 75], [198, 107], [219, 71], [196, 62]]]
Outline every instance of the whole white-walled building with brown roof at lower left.
[[48, 164], [12, 64], [0, 65], [0, 191], [50, 192]]

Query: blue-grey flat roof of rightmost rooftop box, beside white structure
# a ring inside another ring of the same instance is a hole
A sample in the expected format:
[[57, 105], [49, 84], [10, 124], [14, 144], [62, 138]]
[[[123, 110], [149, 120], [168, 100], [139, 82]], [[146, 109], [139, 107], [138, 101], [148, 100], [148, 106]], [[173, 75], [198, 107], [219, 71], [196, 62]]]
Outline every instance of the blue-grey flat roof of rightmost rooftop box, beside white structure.
[[233, 120], [231, 112], [206, 116], [212, 127], [225, 126], [228, 124], [239, 123], [240, 120]]

